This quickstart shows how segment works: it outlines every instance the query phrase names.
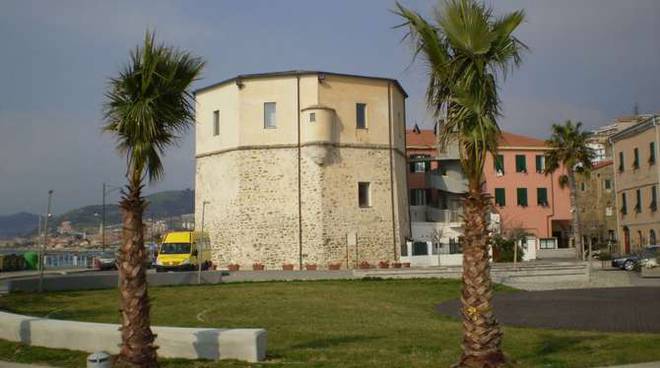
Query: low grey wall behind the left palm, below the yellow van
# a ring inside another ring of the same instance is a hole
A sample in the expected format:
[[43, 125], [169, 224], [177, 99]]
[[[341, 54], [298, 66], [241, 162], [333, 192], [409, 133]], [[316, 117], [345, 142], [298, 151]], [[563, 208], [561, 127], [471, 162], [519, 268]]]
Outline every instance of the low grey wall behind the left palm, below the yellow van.
[[[222, 282], [222, 271], [202, 272], [202, 284]], [[39, 277], [9, 279], [2, 282], [5, 292], [35, 292], [39, 290]], [[197, 285], [197, 272], [148, 273], [149, 286]], [[71, 275], [52, 275], [44, 277], [43, 288], [46, 291], [112, 289], [117, 287], [116, 273], [85, 272]]]

